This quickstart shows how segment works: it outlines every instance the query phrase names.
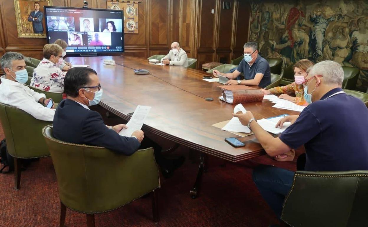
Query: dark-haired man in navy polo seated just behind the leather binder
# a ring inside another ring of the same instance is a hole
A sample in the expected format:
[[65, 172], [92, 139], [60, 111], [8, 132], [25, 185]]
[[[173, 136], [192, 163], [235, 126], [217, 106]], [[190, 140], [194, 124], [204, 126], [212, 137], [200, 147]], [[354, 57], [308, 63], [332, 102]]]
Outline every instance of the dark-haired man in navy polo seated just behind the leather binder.
[[[242, 72], [244, 80], [235, 80]], [[229, 78], [230, 80], [225, 85], [255, 85], [265, 88], [271, 84], [270, 65], [265, 58], [258, 55], [256, 42], [244, 44], [244, 59], [241, 60], [235, 71], [220, 73], [218, 70], [213, 70], [213, 75]]]

